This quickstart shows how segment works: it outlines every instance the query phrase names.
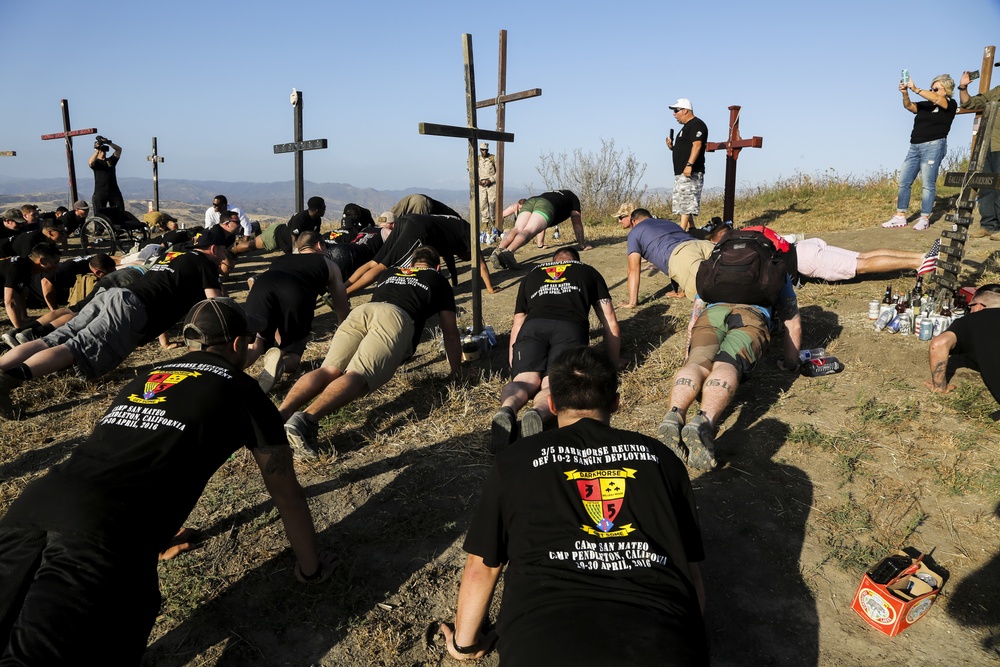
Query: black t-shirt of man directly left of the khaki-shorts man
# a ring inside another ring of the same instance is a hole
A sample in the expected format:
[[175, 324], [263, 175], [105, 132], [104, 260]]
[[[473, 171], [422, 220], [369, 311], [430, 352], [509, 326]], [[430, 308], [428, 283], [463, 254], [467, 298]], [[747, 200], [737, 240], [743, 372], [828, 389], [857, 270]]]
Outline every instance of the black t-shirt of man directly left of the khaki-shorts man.
[[301, 355], [305, 352], [316, 313], [316, 292], [287, 273], [265, 271], [247, 295], [247, 314], [264, 318], [267, 325], [258, 332], [268, 347], [281, 336], [281, 349]]

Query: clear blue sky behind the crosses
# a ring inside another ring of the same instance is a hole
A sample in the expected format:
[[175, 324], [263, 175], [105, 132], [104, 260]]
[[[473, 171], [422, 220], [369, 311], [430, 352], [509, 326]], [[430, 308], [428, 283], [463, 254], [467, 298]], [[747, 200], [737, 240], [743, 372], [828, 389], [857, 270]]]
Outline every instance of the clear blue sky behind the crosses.
[[[292, 139], [296, 87], [305, 138], [330, 141], [306, 154], [308, 180], [461, 188], [466, 144], [421, 136], [417, 124], [465, 124], [463, 33], [478, 96], [496, 94], [506, 29], [508, 92], [543, 90], [507, 107], [509, 184], [540, 187], [541, 153], [595, 150], [604, 138], [648, 164], [647, 185], [669, 185], [667, 105], [688, 97], [710, 140], [725, 138], [732, 104], [743, 136], [764, 137], [740, 156], [748, 186], [897, 169], [912, 126], [900, 68], [921, 87], [978, 69], [982, 48], [1000, 42], [1000, 2], [5, 0], [0, 25], [0, 150], [17, 151], [0, 158], [0, 176], [65, 176], [62, 142], [39, 137], [61, 131], [68, 98], [75, 128], [124, 147], [120, 175], [150, 176], [156, 136], [161, 178], [290, 180], [292, 157], [272, 145]], [[479, 123], [494, 128], [495, 114]], [[968, 145], [970, 132], [960, 116], [949, 146]], [[91, 139], [75, 142], [78, 172]], [[724, 165], [722, 153], [708, 157], [708, 186], [723, 184]]]

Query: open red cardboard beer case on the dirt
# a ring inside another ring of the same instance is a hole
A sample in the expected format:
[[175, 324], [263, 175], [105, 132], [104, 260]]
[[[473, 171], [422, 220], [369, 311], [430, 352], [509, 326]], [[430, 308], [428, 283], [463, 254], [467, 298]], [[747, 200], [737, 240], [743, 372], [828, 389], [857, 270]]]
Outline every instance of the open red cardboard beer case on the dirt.
[[944, 584], [939, 574], [910, 554], [900, 551], [894, 556], [909, 558], [911, 566], [880, 584], [872, 579], [872, 573], [878, 570], [876, 565], [861, 579], [851, 603], [851, 609], [868, 625], [890, 637], [923, 618]]

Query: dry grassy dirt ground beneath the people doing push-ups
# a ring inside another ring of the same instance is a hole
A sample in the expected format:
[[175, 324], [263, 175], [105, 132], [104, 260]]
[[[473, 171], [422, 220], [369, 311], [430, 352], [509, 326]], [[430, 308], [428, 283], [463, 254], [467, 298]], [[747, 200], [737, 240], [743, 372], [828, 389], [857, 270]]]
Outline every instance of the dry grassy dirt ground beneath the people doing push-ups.
[[[859, 250], [924, 250], [941, 224], [822, 236]], [[624, 234], [603, 234], [584, 260], [602, 271], [617, 303], [625, 297]], [[970, 242], [966, 284], [996, 272], [996, 249], [989, 239]], [[521, 269], [495, 275], [504, 289], [484, 295], [483, 312], [500, 346], [471, 362], [479, 379], [444, 382], [443, 354], [426, 341], [389, 385], [324, 422], [326, 455], [296, 467], [321, 546], [342, 561], [329, 582], [295, 582], [248, 454], [217, 473], [187, 522], [201, 531], [199, 548], [161, 565], [165, 601], [145, 664], [452, 663], [439, 643], [428, 646], [426, 630], [454, 615], [462, 539], [491, 463], [488, 424], [507, 377], [517, 280], [551, 252], [530, 245], [518, 252]], [[238, 298], [263, 265], [241, 264], [231, 283]], [[471, 311], [467, 267], [461, 279], [459, 303]], [[1000, 406], [969, 369], [957, 371], [954, 394], [924, 388], [927, 343], [875, 332], [868, 320], [867, 303], [887, 282], [910, 289], [913, 272], [801, 288], [804, 346], [825, 346], [846, 370], [792, 377], [775, 367], [772, 346], [723, 419], [720, 467], [692, 475], [713, 664], [1000, 663], [1000, 429], [989, 417]], [[666, 283], [644, 273], [641, 307], [618, 312], [629, 365], [613, 423], [651, 435], [683, 359], [690, 312], [688, 301], [664, 296]], [[335, 321], [325, 307], [320, 313], [307, 353], [316, 362]], [[142, 350], [96, 384], [63, 376], [34, 383], [21, 397], [44, 407], [3, 425], [0, 507], [86, 435], [121, 382], [168, 354]], [[902, 547], [933, 551], [950, 578], [926, 617], [888, 639], [850, 603], [864, 569]], [[628, 628], [595, 635], [628, 641]], [[481, 662], [495, 665], [496, 654]]]

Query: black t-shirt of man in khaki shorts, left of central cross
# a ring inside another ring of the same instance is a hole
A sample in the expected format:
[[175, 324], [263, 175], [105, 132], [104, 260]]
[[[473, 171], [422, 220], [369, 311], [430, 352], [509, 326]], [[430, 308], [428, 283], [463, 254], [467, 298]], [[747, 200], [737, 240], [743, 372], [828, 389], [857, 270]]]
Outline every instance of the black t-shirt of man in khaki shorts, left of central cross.
[[413, 348], [417, 349], [424, 322], [442, 310], [455, 312], [455, 293], [448, 281], [430, 268], [390, 268], [378, 277], [372, 301], [399, 306], [413, 319]]

